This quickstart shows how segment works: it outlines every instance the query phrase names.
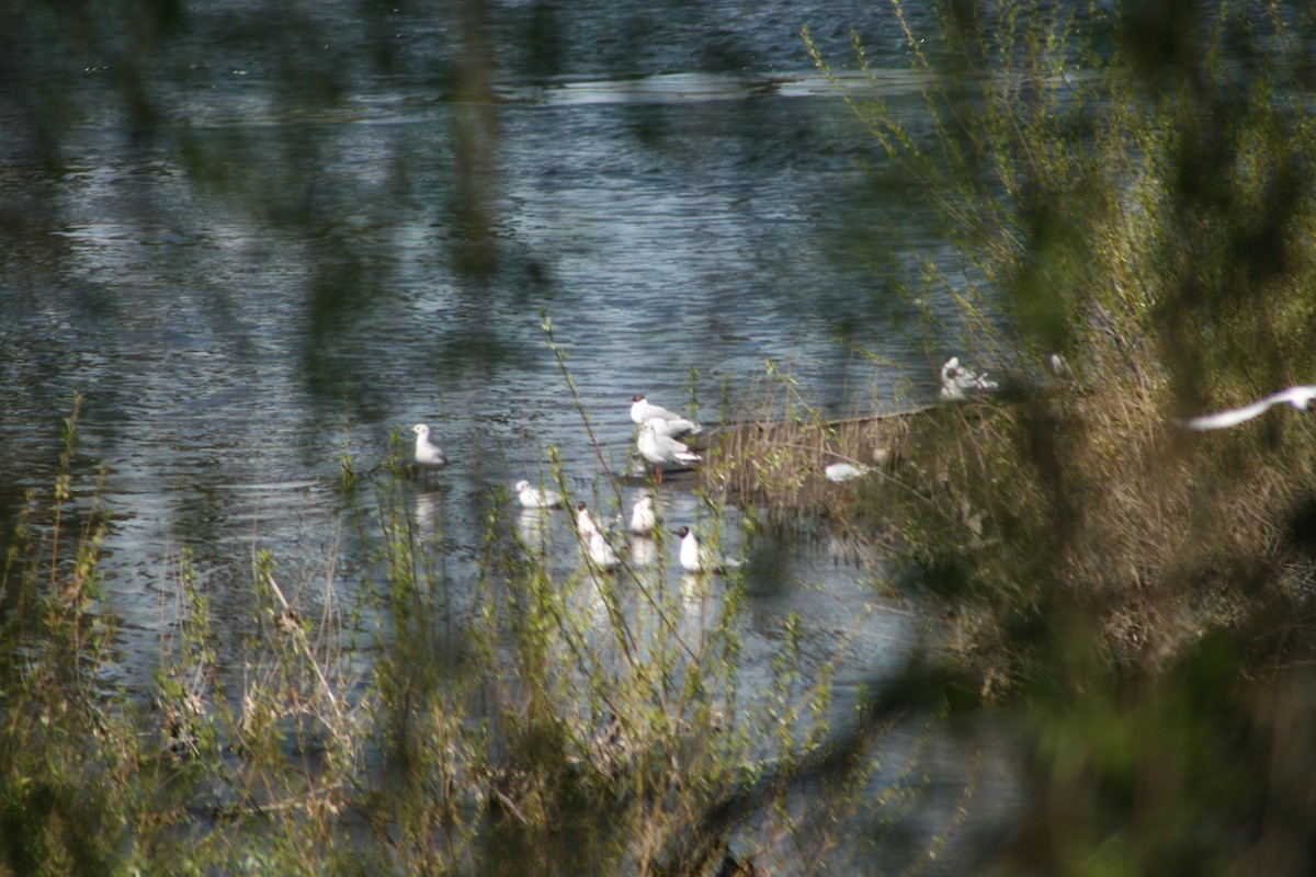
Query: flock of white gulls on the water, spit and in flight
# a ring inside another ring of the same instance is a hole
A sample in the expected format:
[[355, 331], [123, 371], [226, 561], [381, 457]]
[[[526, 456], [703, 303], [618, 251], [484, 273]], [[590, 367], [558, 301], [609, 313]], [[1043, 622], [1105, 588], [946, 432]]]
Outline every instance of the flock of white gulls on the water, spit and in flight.
[[[1069, 364], [1059, 354], [1051, 354], [1048, 366], [1062, 377], [1070, 375]], [[988, 379], [986, 373], [979, 375], [962, 366], [958, 356], [951, 356], [941, 367], [940, 394], [944, 400], [963, 401], [974, 393], [998, 388], [999, 384]], [[1316, 412], [1316, 387], [1290, 387], [1252, 405], [1174, 422], [1180, 429], [1195, 431], [1228, 429], [1258, 417], [1270, 406], [1280, 404], [1287, 404], [1299, 412]], [[680, 468], [701, 460], [688, 444], [680, 440], [686, 435], [701, 431], [695, 421], [661, 405], [654, 405], [644, 394], [636, 394], [630, 398], [630, 419], [638, 426], [636, 448], [640, 451], [640, 456], [655, 467], [658, 484], [662, 484], [663, 468]], [[415, 463], [418, 469], [429, 472], [447, 465], [447, 455], [433, 443], [429, 426], [417, 423], [412, 431], [416, 433]], [[871, 467], [859, 463], [841, 462], [825, 467], [824, 475], [832, 481], [841, 483], [861, 477], [871, 471]], [[547, 510], [561, 509], [563, 505], [561, 493], [537, 488], [524, 479], [516, 483], [515, 490], [522, 509]], [[608, 535], [595, 523], [584, 502], [576, 505], [575, 525], [590, 561], [604, 571], [616, 569], [621, 560], [608, 540]], [[630, 535], [637, 539], [649, 539], [657, 526], [658, 515], [653, 497], [650, 494], [641, 496], [630, 509], [628, 526]], [[687, 572], [725, 571], [738, 565], [734, 560], [711, 555], [699, 544], [695, 531], [690, 527], [680, 527], [676, 535], [680, 536], [680, 565]]]

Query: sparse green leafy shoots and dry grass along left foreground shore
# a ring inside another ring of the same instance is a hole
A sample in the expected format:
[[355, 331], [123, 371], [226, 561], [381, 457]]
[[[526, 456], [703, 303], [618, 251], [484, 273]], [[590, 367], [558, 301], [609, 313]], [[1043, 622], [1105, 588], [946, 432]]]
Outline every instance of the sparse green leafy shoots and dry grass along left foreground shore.
[[[342, 485], [379, 547], [350, 604], [333, 559], [290, 586], [255, 554], [225, 667], [216, 594], [180, 552], [154, 692], [116, 689], [75, 425], [0, 581], [0, 874], [808, 873], [862, 855], [841, 826], [917, 799], [917, 753], [867, 792], [905, 703], [874, 699], [833, 739], [845, 643], [820, 661], [787, 619], [746, 676], [742, 579], [669, 576], [662, 533], [651, 564], [565, 572], [501, 490], [478, 580], [455, 579], [442, 504], [413, 514], [401, 455]], [[716, 547], [725, 509], [705, 506]]]

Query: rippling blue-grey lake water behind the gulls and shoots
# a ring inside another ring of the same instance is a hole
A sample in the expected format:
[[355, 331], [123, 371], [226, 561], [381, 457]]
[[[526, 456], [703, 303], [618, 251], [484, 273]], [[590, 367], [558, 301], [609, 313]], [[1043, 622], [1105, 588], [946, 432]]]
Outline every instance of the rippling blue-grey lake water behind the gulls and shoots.
[[[932, 396], [946, 351], [895, 285], [936, 250], [799, 36], [846, 67], [858, 30], [917, 130], [887, 4], [213, 5], [138, 53], [126, 25], [17, 41], [32, 84], [0, 109], [4, 534], [49, 489], [82, 393], [78, 490], [104, 464], [129, 684], [158, 657], [182, 547], [234, 643], [255, 548], [305, 588], [337, 557], [350, 594], [371, 546], [343, 521], [341, 460], [371, 468], [395, 430], [428, 422], [454, 459], [413, 502], [446, 521], [458, 579], [490, 489], [546, 477], [550, 446], [592, 498], [541, 309], [617, 471], [632, 393], [684, 408], [694, 385], [713, 423], [724, 398], [744, 415], [769, 359], [832, 412]], [[672, 529], [701, 514], [680, 488], [661, 501]], [[820, 652], [858, 634], [851, 682], [899, 667], [916, 601], [857, 623], [874, 567], [792, 546], [750, 584], [751, 652], [796, 613]], [[751, 569], [779, 550], [751, 542]]]

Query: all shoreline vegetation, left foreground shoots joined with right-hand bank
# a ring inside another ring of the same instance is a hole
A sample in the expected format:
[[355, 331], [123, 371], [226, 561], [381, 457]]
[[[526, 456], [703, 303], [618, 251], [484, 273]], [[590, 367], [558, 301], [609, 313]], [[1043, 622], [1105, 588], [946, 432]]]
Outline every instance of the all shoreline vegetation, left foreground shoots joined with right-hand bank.
[[[246, 659], [224, 667], [179, 552], [154, 690], [120, 690], [113, 522], [72, 472], [75, 402], [0, 579], [0, 876], [928, 872], [988, 756], [909, 839], [920, 757], [1001, 715], [1025, 738], [1019, 815], [951, 870], [1309, 873], [1316, 421], [1173, 418], [1313, 380], [1316, 25], [1001, 1], [950, 4], [925, 34], [892, 9], [930, 139], [880, 78], [836, 84], [888, 159], [874, 174], [913, 183], [962, 259], [903, 291], [961, 305], [916, 334], [929, 360], [1028, 376], [1061, 352], [1074, 377], [830, 422], [770, 366], [780, 415], [713, 437], [699, 489], [713, 513], [825, 511], [880, 544], [940, 601], [949, 656], [913, 655], [838, 722], [848, 643], [811, 655], [787, 623], [746, 686], [741, 576], [667, 586], [672, 542], [654, 576], [563, 573], [497, 490], [458, 594], [396, 455], [370, 484], [345, 462], [347, 517], [380, 546], [359, 606], [334, 559], [292, 588], [258, 554]], [[834, 484], [832, 460], [874, 471]], [[471, 623], [440, 636], [458, 600]]]

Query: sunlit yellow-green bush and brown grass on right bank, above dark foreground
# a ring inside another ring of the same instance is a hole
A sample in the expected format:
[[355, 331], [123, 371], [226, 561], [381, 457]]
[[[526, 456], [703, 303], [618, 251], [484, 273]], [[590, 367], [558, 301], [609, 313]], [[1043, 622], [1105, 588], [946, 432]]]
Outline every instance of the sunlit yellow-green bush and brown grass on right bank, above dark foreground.
[[[1228, 433], [1175, 427], [1305, 373], [1305, 30], [1242, 4], [1174, 18], [1180, 54], [1154, 58], [1141, 13], [1079, 12], [961, 9], [940, 54], [907, 25], [930, 143], [886, 110], [871, 70], [871, 93], [829, 75], [958, 247], [954, 270], [923, 272], [962, 304], [955, 322], [929, 314], [929, 346], [1015, 375], [992, 402], [874, 430], [907, 463], [874, 481], [883, 522], [934, 584], [1023, 619], [1080, 601], [1145, 663], [1258, 589], [1288, 593], [1305, 560], [1309, 423], [1277, 409]], [[1101, 54], [1101, 33], [1125, 38]], [[1063, 377], [1042, 368], [1055, 352]]]

